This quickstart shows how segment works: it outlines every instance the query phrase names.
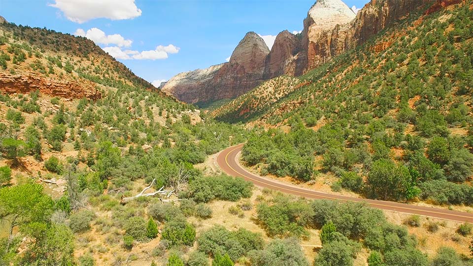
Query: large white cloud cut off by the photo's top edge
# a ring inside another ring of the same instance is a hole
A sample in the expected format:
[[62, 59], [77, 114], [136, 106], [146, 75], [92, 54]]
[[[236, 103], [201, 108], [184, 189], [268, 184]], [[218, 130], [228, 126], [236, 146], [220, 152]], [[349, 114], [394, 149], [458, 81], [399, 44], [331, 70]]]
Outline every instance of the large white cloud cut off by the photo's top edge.
[[132, 19], [141, 15], [135, 0], [55, 0], [49, 6], [59, 8], [68, 20], [84, 23], [91, 19]]

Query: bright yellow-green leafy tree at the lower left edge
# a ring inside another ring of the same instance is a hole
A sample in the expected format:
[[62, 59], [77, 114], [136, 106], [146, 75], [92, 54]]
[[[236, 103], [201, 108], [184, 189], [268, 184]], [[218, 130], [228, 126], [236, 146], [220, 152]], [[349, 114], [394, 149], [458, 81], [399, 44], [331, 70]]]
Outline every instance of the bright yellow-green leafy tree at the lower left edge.
[[6, 250], [9, 249], [15, 226], [47, 220], [53, 204], [39, 184], [27, 183], [0, 189], [0, 218], [10, 222]]

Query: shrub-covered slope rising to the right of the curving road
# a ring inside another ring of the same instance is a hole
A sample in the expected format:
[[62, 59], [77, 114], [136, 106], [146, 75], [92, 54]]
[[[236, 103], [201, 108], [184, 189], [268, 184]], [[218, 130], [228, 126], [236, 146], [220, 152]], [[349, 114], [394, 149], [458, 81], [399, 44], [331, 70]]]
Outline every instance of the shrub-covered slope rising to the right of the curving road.
[[[257, 133], [243, 148], [260, 173], [369, 198], [471, 205], [472, 15], [472, 1], [433, 5], [298, 86], [270, 98], [261, 86], [211, 114], [286, 132]], [[390, 174], [397, 179], [381, 182]]]

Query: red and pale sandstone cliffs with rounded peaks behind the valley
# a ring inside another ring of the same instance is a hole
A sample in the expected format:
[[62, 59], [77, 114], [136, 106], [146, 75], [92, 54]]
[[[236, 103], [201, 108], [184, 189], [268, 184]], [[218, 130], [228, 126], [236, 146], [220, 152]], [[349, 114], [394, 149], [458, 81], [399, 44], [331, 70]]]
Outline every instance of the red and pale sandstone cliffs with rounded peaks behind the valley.
[[283, 31], [268, 51], [256, 33], [247, 33], [229, 63], [178, 74], [163, 91], [192, 103], [234, 98], [264, 80], [302, 75], [434, 1], [371, 0], [355, 14], [341, 0], [317, 0], [304, 19], [302, 38]]

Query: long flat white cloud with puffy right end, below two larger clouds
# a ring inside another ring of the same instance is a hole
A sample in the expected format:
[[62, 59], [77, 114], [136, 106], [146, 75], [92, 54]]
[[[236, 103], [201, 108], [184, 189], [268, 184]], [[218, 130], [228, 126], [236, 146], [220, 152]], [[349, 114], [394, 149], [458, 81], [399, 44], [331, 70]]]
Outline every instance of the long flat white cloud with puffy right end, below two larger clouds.
[[167, 59], [169, 54], [176, 54], [179, 52], [179, 47], [176, 47], [172, 44], [167, 46], [158, 45], [154, 50], [148, 51], [135, 51], [135, 50], [122, 50], [118, 46], [105, 47], [103, 51], [107, 52], [109, 55], [113, 56], [116, 59], [136, 59], [136, 60], [159, 60]]

